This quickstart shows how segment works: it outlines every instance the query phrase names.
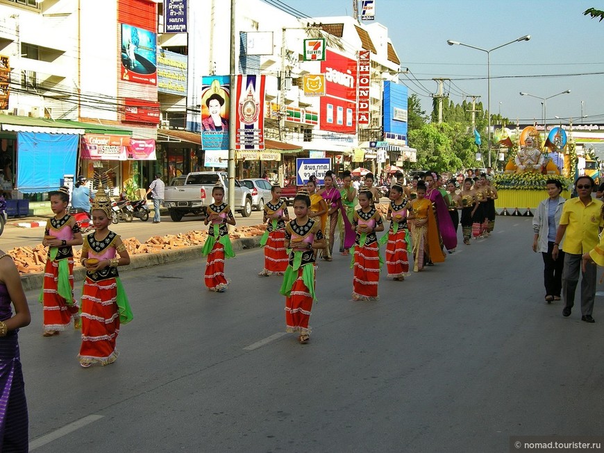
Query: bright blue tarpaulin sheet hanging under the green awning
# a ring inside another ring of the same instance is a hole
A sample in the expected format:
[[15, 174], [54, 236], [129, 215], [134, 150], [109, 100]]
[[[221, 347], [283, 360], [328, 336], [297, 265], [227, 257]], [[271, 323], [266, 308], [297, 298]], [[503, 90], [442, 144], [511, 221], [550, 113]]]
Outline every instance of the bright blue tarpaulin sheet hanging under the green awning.
[[57, 190], [64, 175], [76, 174], [80, 136], [17, 133], [17, 189], [24, 194]]

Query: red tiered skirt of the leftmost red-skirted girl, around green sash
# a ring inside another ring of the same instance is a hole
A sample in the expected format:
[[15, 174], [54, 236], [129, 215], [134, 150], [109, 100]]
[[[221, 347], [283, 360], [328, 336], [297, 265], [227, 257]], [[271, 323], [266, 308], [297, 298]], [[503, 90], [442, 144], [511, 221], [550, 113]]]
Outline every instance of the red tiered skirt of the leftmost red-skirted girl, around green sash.
[[69, 286], [72, 287], [72, 305], [67, 305], [66, 300], [57, 292], [59, 275], [58, 262], [47, 259], [44, 268], [44, 284], [42, 287], [42, 305], [44, 308], [42, 321], [44, 332], [66, 330], [72, 317], [77, 319], [80, 308], [74, 299], [74, 259], [65, 258], [69, 266]]

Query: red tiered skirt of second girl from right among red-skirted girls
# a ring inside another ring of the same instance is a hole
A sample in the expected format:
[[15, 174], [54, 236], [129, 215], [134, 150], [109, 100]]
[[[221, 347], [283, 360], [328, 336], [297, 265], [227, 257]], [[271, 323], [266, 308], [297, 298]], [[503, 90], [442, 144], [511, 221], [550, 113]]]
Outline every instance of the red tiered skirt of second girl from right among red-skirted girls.
[[378, 243], [355, 246], [353, 299], [376, 300], [380, 280], [380, 249]]

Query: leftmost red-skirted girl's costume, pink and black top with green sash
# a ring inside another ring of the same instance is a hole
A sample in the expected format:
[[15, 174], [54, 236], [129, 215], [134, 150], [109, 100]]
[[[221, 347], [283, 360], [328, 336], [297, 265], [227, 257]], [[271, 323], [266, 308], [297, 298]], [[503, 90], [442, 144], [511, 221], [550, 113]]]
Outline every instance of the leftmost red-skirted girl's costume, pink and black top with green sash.
[[[70, 241], [77, 232], [80, 232], [80, 227], [76, 219], [67, 214], [62, 219], [49, 219], [44, 233]], [[72, 246], [50, 247], [39, 299], [44, 307], [44, 332], [65, 330], [72, 318], [76, 322], [80, 317], [78, 303], [74, 299], [73, 271]]]

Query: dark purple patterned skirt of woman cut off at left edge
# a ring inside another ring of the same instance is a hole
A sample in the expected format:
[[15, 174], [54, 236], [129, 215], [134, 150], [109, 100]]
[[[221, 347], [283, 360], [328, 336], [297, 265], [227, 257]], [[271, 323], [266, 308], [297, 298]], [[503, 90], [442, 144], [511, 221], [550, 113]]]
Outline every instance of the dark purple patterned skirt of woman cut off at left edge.
[[0, 337], [0, 452], [28, 452], [28, 416], [17, 332]]

